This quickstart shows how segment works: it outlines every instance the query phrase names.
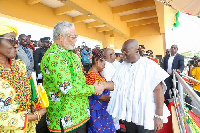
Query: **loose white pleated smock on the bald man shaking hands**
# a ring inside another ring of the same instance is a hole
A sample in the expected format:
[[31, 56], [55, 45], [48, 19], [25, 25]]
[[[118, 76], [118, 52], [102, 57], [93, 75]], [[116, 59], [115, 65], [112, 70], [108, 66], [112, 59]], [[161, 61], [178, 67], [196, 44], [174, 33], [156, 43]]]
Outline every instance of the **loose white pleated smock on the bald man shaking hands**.
[[[169, 76], [157, 63], [140, 57], [136, 63], [123, 62], [116, 71], [113, 97], [107, 111], [119, 119], [144, 126], [144, 129], [154, 130], [154, 115], [156, 105], [154, 102], [154, 89]], [[163, 94], [164, 95], [164, 94]], [[170, 112], [164, 104], [163, 122], [167, 123]]]

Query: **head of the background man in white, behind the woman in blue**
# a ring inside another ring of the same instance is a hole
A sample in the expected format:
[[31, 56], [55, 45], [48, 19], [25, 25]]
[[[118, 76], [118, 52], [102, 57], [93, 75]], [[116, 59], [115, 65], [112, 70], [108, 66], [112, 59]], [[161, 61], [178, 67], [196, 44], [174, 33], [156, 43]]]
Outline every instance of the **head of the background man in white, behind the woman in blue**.
[[113, 63], [116, 58], [114, 50], [110, 48], [106, 48], [104, 50], [104, 58], [106, 61]]

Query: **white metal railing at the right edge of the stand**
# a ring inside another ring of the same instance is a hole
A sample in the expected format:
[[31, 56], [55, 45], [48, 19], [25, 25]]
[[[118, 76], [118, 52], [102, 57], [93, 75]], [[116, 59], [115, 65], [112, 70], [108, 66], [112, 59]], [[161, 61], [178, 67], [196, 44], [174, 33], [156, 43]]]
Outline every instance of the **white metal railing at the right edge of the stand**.
[[[200, 83], [200, 81], [194, 78], [191, 78], [187, 75], [184, 75], [184, 74], [180, 74], [180, 75], [187, 77], [190, 80]], [[190, 85], [188, 85], [185, 82], [185, 80], [182, 79], [180, 75], [176, 71], [173, 70], [172, 91], [174, 93], [173, 100], [174, 100], [174, 106], [176, 109], [176, 116], [178, 119], [179, 129], [181, 133], [186, 133], [185, 126], [184, 126], [184, 119], [183, 119], [186, 116], [186, 112], [184, 110], [185, 101], [184, 101], [183, 90], [185, 90], [188, 93], [189, 97], [192, 99], [192, 101], [196, 103], [195, 105], [197, 107], [195, 107], [195, 109], [200, 109], [200, 97], [194, 92], [193, 88]], [[177, 87], [177, 83], [178, 83], [178, 87]], [[178, 90], [176, 88], [178, 88]], [[188, 127], [189, 132], [192, 133], [192, 130], [191, 130], [192, 128], [190, 127], [190, 125], [187, 125], [187, 127]]]

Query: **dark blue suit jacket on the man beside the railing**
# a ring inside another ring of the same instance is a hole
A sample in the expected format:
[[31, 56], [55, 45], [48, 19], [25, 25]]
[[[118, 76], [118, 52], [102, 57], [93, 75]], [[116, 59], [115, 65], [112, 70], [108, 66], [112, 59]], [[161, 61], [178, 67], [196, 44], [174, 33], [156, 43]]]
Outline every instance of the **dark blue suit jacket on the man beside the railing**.
[[[164, 61], [162, 64], [162, 68], [167, 72], [167, 68], [168, 68], [168, 59], [169, 59], [170, 55], [166, 55], [164, 57]], [[180, 54], [176, 54], [176, 56], [174, 57], [174, 60], [172, 62], [172, 70], [173, 69], [179, 69], [181, 70], [181, 72], [184, 69], [184, 57]]]

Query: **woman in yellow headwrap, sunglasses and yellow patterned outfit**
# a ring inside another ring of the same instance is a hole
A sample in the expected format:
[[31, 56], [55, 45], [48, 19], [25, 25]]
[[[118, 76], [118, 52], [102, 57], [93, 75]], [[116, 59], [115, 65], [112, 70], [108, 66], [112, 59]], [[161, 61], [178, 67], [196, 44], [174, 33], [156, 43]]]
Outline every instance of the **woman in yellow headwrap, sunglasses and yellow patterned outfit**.
[[0, 132], [34, 133], [36, 120], [46, 109], [31, 113], [31, 86], [26, 76], [26, 66], [14, 60], [18, 43], [17, 27], [0, 20]]

